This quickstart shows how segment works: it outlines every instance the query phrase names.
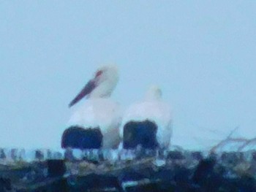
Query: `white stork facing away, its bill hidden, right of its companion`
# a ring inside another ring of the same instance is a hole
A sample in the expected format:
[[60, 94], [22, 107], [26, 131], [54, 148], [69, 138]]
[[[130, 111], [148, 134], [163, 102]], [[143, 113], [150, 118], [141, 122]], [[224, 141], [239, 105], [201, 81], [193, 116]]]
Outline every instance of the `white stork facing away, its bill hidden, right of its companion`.
[[124, 112], [119, 134], [123, 139], [124, 148], [132, 148], [135, 145], [146, 148], [169, 147], [172, 118], [170, 107], [162, 101], [160, 88], [152, 85], [144, 101], [132, 104]]

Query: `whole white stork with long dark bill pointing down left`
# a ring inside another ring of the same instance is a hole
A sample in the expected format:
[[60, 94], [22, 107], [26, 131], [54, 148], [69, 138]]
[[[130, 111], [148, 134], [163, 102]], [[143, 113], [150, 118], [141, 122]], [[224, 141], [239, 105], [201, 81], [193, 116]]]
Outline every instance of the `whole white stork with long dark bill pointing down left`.
[[[118, 69], [115, 65], [102, 66], [95, 72], [93, 79], [89, 80], [69, 104], [69, 107], [72, 107], [81, 99], [87, 99], [69, 119], [69, 126], [75, 127], [76, 131], [73, 131], [73, 135], [68, 133], [68, 129], [64, 132], [62, 147], [68, 147], [67, 142], [72, 142], [72, 145], [77, 147], [80, 146], [78, 142], [86, 142], [86, 140], [91, 147], [94, 146], [93, 142], [98, 142], [97, 140], [101, 140], [100, 145], [103, 148], [118, 146], [121, 115], [118, 104], [109, 99], [117, 82]], [[66, 137], [67, 134], [70, 135], [69, 138]]]

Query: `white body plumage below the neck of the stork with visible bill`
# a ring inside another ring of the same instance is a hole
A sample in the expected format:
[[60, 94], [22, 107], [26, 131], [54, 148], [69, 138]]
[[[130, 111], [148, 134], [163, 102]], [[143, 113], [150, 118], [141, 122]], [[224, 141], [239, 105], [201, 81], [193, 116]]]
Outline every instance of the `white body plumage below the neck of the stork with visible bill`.
[[102, 147], [117, 147], [120, 142], [118, 127], [121, 123], [120, 107], [110, 99], [89, 99], [73, 113], [69, 126], [100, 128]]

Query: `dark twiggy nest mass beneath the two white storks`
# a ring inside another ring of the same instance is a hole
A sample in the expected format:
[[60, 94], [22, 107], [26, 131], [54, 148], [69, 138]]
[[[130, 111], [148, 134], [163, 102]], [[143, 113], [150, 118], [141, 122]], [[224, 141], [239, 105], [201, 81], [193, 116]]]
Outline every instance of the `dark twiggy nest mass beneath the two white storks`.
[[75, 158], [69, 149], [64, 159], [44, 159], [2, 164], [0, 191], [256, 191], [255, 151], [172, 150], [165, 161], [143, 156], [111, 162]]

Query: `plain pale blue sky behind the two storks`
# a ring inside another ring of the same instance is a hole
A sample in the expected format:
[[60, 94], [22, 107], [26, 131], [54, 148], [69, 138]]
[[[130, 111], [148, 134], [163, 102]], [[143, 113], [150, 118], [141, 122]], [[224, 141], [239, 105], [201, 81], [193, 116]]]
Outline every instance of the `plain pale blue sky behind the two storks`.
[[174, 145], [256, 137], [256, 1], [0, 1], [0, 147], [59, 147], [69, 101], [118, 65], [124, 108], [162, 88]]

